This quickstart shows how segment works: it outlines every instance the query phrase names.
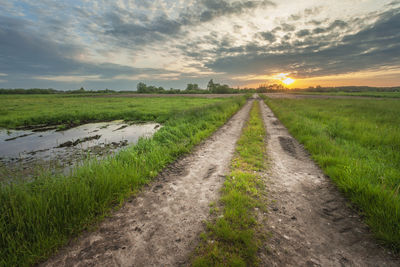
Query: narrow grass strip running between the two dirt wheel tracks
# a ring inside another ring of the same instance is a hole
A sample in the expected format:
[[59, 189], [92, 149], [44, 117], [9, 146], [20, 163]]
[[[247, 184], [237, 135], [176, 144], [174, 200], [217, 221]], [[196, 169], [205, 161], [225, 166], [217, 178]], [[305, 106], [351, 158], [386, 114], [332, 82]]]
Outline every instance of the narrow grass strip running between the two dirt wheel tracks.
[[207, 223], [194, 266], [254, 266], [262, 235], [257, 232], [255, 208], [263, 208], [265, 194], [258, 171], [265, 168], [265, 128], [257, 102], [243, 130], [222, 189], [216, 219]]

